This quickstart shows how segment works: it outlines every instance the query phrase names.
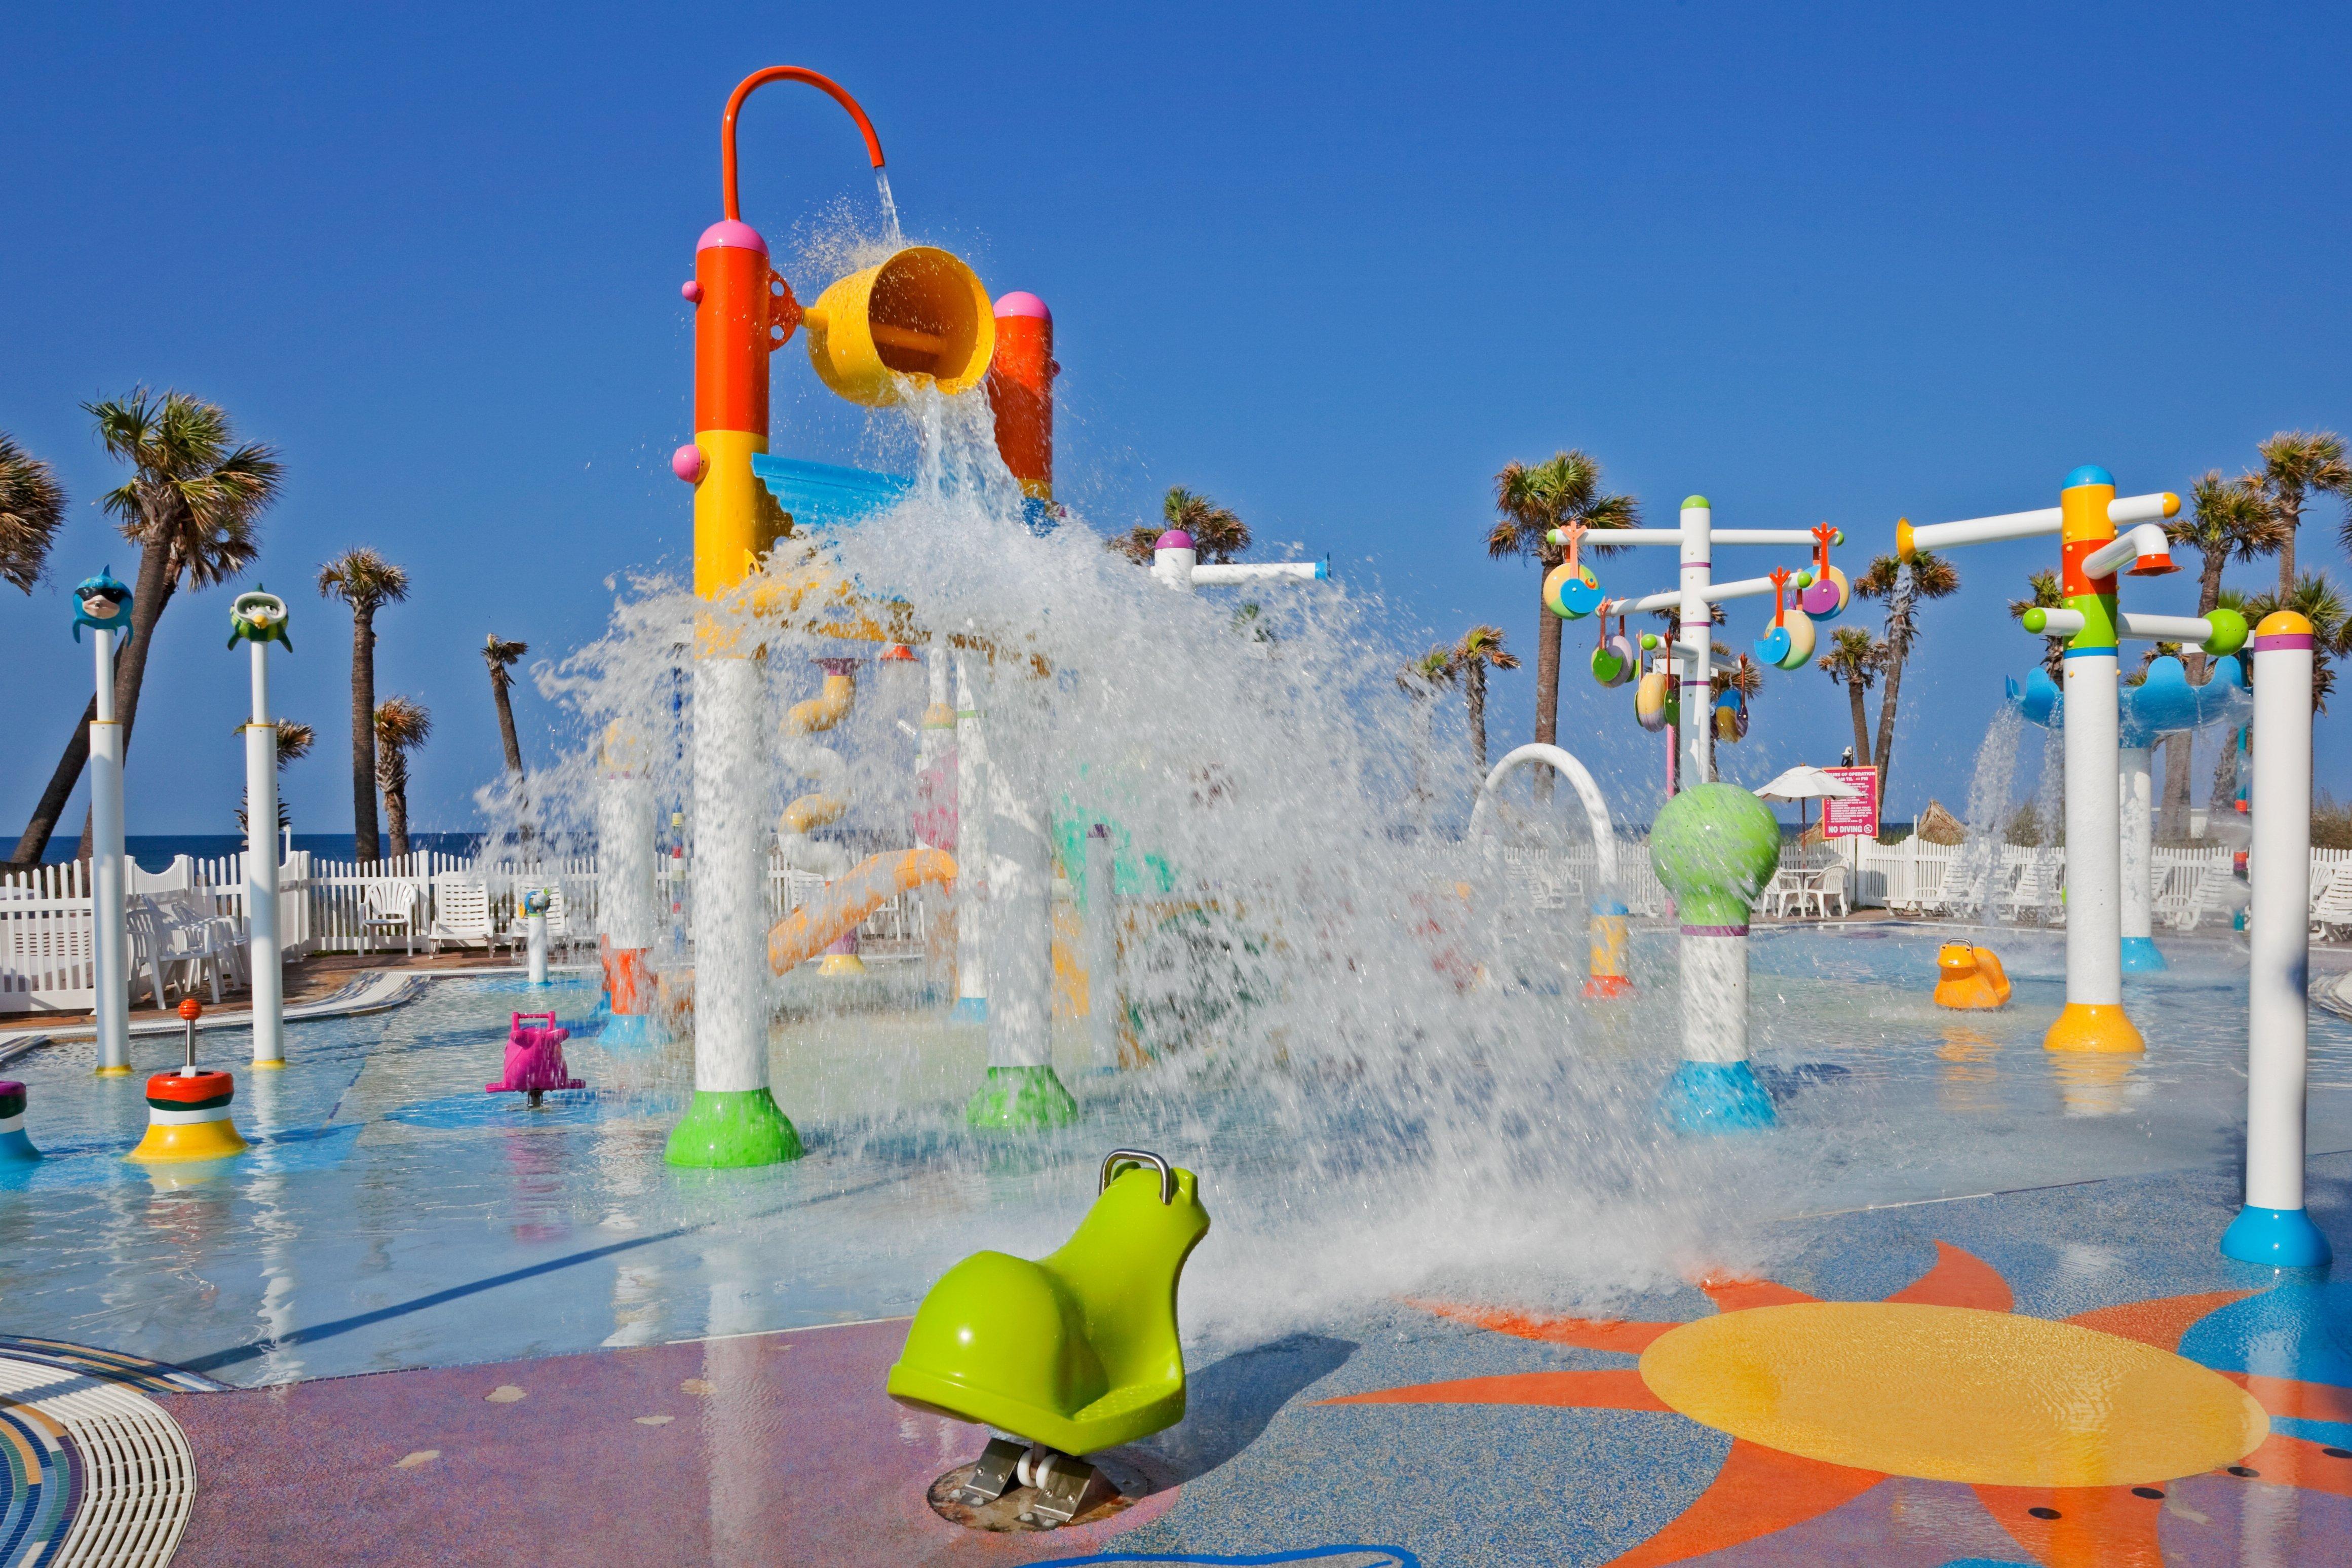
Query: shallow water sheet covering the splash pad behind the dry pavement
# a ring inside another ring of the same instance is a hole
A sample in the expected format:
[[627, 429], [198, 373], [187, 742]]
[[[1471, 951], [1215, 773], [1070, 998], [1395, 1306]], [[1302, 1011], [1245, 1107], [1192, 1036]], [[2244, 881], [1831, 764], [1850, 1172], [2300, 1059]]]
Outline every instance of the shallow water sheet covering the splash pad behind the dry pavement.
[[[1345, 1084], [1303, 1091], [1345, 1079], [1329, 1058], [1110, 1072], [1077, 1025], [1056, 1060], [1084, 1121], [974, 1135], [957, 1107], [985, 1030], [889, 985], [844, 1006], [795, 978], [771, 1074], [809, 1157], [748, 1173], [661, 1159], [691, 1084], [684, 1044], [586, 1034], [567, 1056], [588, 1091], [541, 1110], [482, 1093], [510, 1011], [593, 1025], [581, 983], [435, 980], [390, 1013], [294, 1025], [282, 1072], [238, 1067], [254, 1150], [221, 1166], [122, 1161], [143, 1074], [179, 1060], [176, 1039], [134, 1041], [132, 1079], [94, 1079], [87, 1046], [59, 1046], [12, 1067], [49, 1157], [0, 1171], [0, 1326], [249, 1385], [873, 1319], [908, 1312], [969, 1251], [1054, 1246], [1101, 1152], [1141, 1143], [1200, 1168], [1216, 1215], [1188, 1324], [1240, 1333], [1425, 1284], [1606, 1300], [1698, 1253], [1766, 1265], [1790, 1215], [2234, 1159], [2246, 1004], [2225, 940], [2183, 943], [2171, 973], [2126, 983], [2145, 1058], [2084, 1060], [2039, 1046], [2063, 938], [1992, 936], [2016, 999], [1964, 1016], [1929, 1001], [1945, 936], [1759, 933], [1755, 1053], [1783, 1126], [1748, 1140], [1691, 1143], [1649, 1114], [1675, 1060], [1672, 936], [1637, 938], [1642, 997], [1613, 1011], [1564, 985], [1470, 990], [1463, 1009], [1515, 1027], [1428, 1077], [1472, 1119], [1494, 1095], [1489, 1143], [1510, 1159], [1475, 1168]], [[1543, 1060], [1508, 1058], [1531, 1018], [1557, 1020]], [[207, 1063], [245, 1051], [242, 1032], [202, 1037]], [[1526, 1084], [1555, 1119], [1526, 1124]], [[2347, 1147], [2352, 1027], [2314, 1013], [2312, 1150]]]

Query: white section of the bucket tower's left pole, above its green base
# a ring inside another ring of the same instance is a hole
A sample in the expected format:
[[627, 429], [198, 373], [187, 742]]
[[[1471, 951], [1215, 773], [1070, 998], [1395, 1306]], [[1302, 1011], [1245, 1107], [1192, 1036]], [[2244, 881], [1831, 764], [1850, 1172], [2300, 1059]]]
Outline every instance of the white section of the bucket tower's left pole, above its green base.
[[767, 1088], [760, 663], [694, 661], [694, 1088]]

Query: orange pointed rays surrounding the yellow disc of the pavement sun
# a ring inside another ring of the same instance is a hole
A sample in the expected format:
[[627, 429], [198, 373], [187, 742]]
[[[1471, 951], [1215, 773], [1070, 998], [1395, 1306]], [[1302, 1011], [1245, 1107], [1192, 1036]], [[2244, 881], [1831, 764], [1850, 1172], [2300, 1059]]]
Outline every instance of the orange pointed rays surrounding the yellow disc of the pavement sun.
[[[1771, 1279], [1708, 1276], [1696, 1284], [1708, 1293], [1717, 1312], [1748, 1312], [1755, 1307], [1818, 1300]], [[2246, 1295], [2253, 1295], [2253, 1291], [2169, 1295], [2098, 1307], [2065, 1321], [2178, 1354], [2190, 1326]], [[1978, 1312], [2016, 1309], [2016, 1293], [2009, 1288], [2009, 1281], [1983, 1258], [1947, 1241], [1936, 1241], [1936, 1262], [1926, 1274], [1886, 1300], [1971, 1307]], [[1632, 1356], [1639, 1356], [1661, 1335], [1682, 1326], [1548, 1316], [1508, 1307], [1470, 1307], [1435, 1300], [1409, 1305], [1519, 1340]], [[2220, 1375], [2244, 1387], [2270, 1415], [2352, 1422], [2352, 1389], [2251, 1373]], [[1510, 1403], [1585, 1410], [1672, 1410], [1651, 1394], [1639, 1368], [1463, 1378], [1456, 1382], [1423, 1382], [1402, 1389], [1348, 1394], [1322, 1403]], [[2319, 1443], [2279, 1432], [2272, 1432], [2232, 1474], [2260, 1479], [2272, 1486], [2352, 1497], [2352, 1467], [2328, 1458]], [[1665, 1528], [1604, 1568], [1665, 1568], [1668, 1563], [1738, 1547], [1820, 1519], [1853, 1502], [1884, 1479], [1877, 1472], [1806, 1460], [1736, 1436], [1715, 1481], [1682, 1514], [1668, 1521]], [[2169, 1486], [1976, 1486], [1971, 1490], [2018, 1547], [2039, 1563], [2053, 1568], [2164, 1568], [2164, 1554], [2157, 1547], [2157, 1526]]]

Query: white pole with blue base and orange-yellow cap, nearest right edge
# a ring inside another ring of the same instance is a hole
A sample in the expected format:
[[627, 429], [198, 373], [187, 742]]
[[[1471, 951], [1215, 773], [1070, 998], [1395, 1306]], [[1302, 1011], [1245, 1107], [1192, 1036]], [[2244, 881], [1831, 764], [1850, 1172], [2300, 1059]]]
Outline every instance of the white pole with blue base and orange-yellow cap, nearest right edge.
[[2253, 846], [2246, 858], [2246, 1206], [2220, 1251], [2317, 1267], [2328, 1239], [2303, 1211], [2310, 1051], [2312, 623], [2293, 611], [2253, 632]]

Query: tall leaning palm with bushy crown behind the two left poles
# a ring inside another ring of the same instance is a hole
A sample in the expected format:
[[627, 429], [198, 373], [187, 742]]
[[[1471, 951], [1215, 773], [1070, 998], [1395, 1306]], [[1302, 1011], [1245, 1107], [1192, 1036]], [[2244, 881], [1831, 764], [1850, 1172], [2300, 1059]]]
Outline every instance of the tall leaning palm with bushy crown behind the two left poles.
[[[106, 491], [101, 505], [120, 520], [122, 538], [139, 545], [132, 583], [132, 639], [115, 661], [115, 719], [129, 757], [139, 717], [139, 686], [155, 649], [155, 623], [181, 583], [212, 588], [245, 569], [261, 548], [254, 524], [278, 498], [282, 465], [259, 442], [238, 442], [228, 414], [188, 393], [158, 397], [134, 388], [129, 397], [85, 402], [99, 425], [106, 454], [132, 465], [132, 477]], [[16, 860], [40, 860], [66, 811], [66, 799], [89, 762], [89, 719], [96, 701], [66, 738], [49, 773], [49, 788], [33, 806], [16, 842]], [[89, 823], [82, 823], [82, 856], [89, 856]]]

